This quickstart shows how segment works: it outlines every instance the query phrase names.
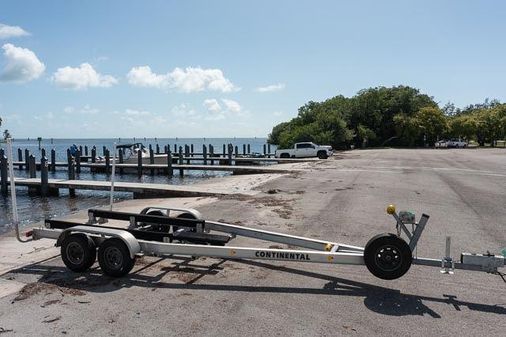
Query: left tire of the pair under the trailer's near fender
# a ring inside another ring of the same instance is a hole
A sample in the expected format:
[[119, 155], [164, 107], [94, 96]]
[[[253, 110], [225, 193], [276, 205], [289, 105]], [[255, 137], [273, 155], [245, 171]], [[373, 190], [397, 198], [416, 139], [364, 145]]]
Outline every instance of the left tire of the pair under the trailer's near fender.
[[95, 243], [84, 234], [68, 235], [62, 241], [60, 252], [65, 266], [76, 273], [88, 270], [97, 259]]

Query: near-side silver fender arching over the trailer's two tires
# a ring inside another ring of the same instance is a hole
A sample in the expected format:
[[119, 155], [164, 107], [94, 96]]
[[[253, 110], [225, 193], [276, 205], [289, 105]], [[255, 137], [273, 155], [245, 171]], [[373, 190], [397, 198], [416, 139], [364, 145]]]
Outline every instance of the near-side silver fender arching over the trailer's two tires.
[[56, 247], [61, 246], [61, 243], [68, 235], [75, 233], [99, 236], [102, 238], [118, 238], [125, 243], [132, 259], [141, 251], [141, 246], [139, 245], [137, 239], [131, 233], [125, 230], [112, 228], [90, 228], [89, 226], [74, 226], [65, 229], [58, 237], [58, 240], [56, 241]]

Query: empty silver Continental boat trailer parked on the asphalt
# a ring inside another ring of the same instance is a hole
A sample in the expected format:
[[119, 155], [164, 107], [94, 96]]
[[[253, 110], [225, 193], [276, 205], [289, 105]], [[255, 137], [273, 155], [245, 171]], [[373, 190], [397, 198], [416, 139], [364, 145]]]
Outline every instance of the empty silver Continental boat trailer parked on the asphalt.
[[[9, 158], [13, 158], [10, 140], [8, 145]], [[455, 261], [450, 254], [450, 237], [446, 238], [446, 253], [442, 259], [418, 257], [416, 246], [429, 220], [426, 214], [422, 214], [420, 219], [415, 221], [414, 213], [397, 213], [395, 206], [389, 205], [387, 213], [395, 219], [395, 233], [376, 235], [362, 248], [209, 221], [194, 209], [147, 207], [139, 213], [113, 211], [114, 169], [111, 178], [110, 210], [90, 209], [86, 222], [47, 219], [44, 226], [29, 230], [25, 233], [27, 238], [21, 238], [12, 160], [9, 160], [9, 170], [13, 223], [17, 239], [21, 242], [43, 238], [56, 240], [55, 245], [61, 247], [63, 262], [74, 272], [88, 270], [95, 263], [97, 255], [104, 274], [113, 277], [128, 274], [139, 256], [206, 256], [221, 259], [365, 265], [374, 276], [385, 280], [397, 279], [403, 276], [412, 264], [417, 264], [441, 268], [441, 272], [445, 274], [453, 274], [455, 269], [496, 274], [506, 282], [505, 274], [499, 271], [499, 268], [505, 266], [504, 256], [488, 252], [462, 253], [460, 260]], [[122, 223], [123, 227], [118, 227], [118, 222]], [[229, 245], [237, 236], [298, 249]]]

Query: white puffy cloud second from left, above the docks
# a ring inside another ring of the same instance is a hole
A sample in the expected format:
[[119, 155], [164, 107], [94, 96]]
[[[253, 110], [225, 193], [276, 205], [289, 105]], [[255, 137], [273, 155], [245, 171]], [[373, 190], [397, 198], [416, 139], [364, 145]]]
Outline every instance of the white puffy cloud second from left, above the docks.
[[77, 68], [58, 68], [52, 80], [59, 87], [75, 90], [88, 87], [108, 88], [118, 83], [118, 80], [110, 75], [97, 73], [89, 63], [83, 63]]

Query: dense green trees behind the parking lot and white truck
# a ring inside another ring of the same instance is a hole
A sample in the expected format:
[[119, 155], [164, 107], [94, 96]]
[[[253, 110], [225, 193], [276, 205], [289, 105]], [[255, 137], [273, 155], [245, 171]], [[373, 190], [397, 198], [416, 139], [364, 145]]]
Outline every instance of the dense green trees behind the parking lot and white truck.
[[481, 146], [506, 138], [506, 104], [486, 100], [463, 109], [409, 86], [363, 89], [310, 101], [298, 115], [273, 127], [268, 141], [279, 147], [311, 141], [335, 149], [361, 146], [433, 146], [437, 140], [463, 138]]

